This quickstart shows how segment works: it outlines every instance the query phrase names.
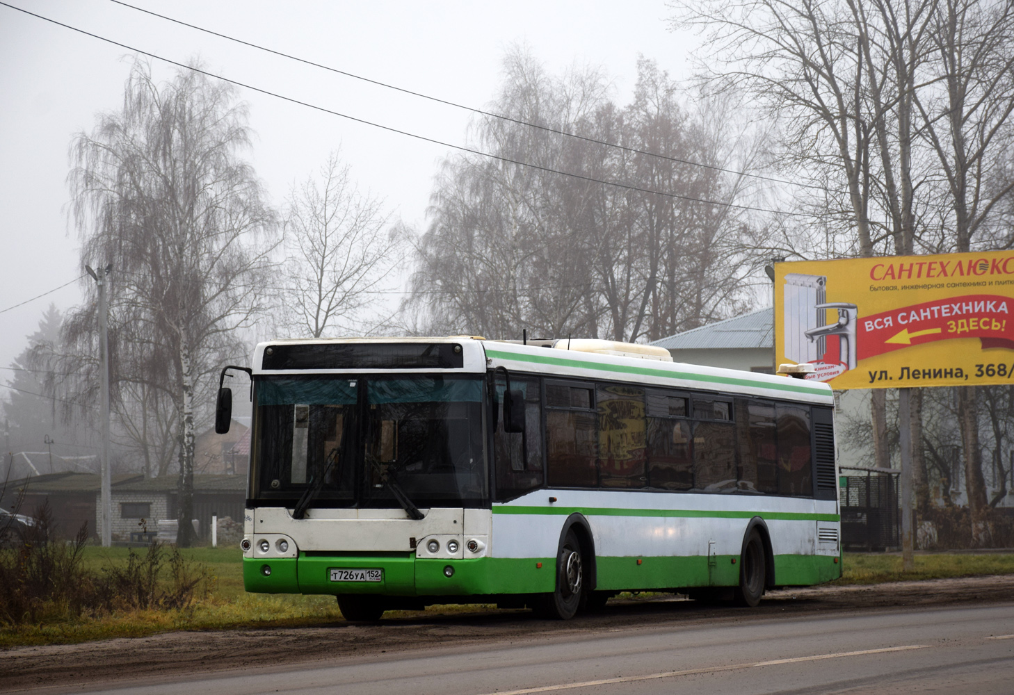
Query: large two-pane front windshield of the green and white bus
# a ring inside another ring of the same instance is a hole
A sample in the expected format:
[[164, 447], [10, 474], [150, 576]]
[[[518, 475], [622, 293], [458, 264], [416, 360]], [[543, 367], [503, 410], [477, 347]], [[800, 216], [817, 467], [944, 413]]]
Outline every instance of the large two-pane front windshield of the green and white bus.
[[485, 506], [484, 383], [456, 375], [258, 377], [255, 498], [287, 504], [320, 483], [311, 508], [397, 508], [395, 489], [421, 508]]

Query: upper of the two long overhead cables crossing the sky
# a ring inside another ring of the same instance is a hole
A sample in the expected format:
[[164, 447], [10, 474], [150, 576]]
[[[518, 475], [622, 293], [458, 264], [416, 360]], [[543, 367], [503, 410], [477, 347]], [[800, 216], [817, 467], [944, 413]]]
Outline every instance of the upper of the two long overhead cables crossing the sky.
[[169, 17], [169, 16], [164, 15], [164, 14], [159, 14], [158, 12], [153, 12], [151, 10], [144, 9], [143, 7], [137, 7], [136, 5], [131, 5], [130, 3], [123, 2], [123, 0], [110, 0], [110, 2], [114, 2], [114, 3], [118, 4], [118, 5], [123, 5], [124, 7], [129, 7], [129, 8], [131, 8], [133, 10], [137, 10], [138, 12], [144, 12], [145, 14], [150, 14], [151, 16], [158, 17], [159, 19], [165, 19], [166, 21], [171, 21], [173, 23], [180, 24], [183, 26], [187, 26], [187, 27], [190, 27], [192, 29], [196, 29], [198, 31], [203, 31], [203, 32], [209, 33], [209, 34], [211, 34], [213, 36], [218, 36], [219, 38], [225, 38], [226, 41], [234, 42], [236, 44], [240, 44], [242, 46], [246, 46], [246, 47], [249, 47], [251, 49], [257, 49], [258, 51], [264, 51], [266, 53], [270, 53], [270, 54], [273, 54], [273, 55], [276, 55], [276, 56], [280, 56], [282, 58], [287, 58], [287, 59], [289, 59], [291, 61], [296, 61], [297, 63], [302, 63], [304, 65], [309, 65], [309, 66], [312, 66], [314, 68], [319, 68], [321, 70], [327, 70], [329, 72], [333, 72], [333, 73], [336, 73], [338, 75], [344, 75], [345, 77], [351, 77], [351, 78], [356, 79], [356, 80], [361, 80], [363, 82], [368, 82], [369, 84], [375, 84], [378, 87], [384, 87], [385, 89], [393, 89], [394, 91], [399, 91], [399, 92], [402, 92], [404, 94], [410, 94], [412, 96], [418, 96], [420, 98], [428, 99], [428, 100], [434, 101], [436, 103], [442, 103], [442, 104], [447, 105], [447, 106], [453, 106], [454, 108], [460, 108], [462, 110], [472, 111], [473, 113], [480, 113], [482, 115], [486, 115], [486, 117], [489, 117], [491, 119], [499, 119], [501, 121], [507, 121], [509, 123], [517, 124], [518, 126], [525, 126], [527, 128], [534, 128], [534, 129], [540, 130], [540, 131], [545, 131], [547, 133], [553, 133], [555, 135], [562, 135], [562, 136], [565, 136], [565, 137], [568, 137], [568, 138], [575, 138], [577, 140], [582, 140], [584, 142], [593, 143], [595, 145], [603, 145], [605, 147], [613, 147], [613, 148], [617, 148], [618, 150], [623, 150], [624, 152], [630, 152], [631, 154], [642, 154], [642, 155], [646, 155], [646, 156], [649, 156], [649, 157], [658, 157], [659, 159], [664, 159], [664, 160], [670, 161], [670, 162], [676, 162], [678, 164], [687, 164], [690, 166], [699, 166], [699, 167], [704, 168], [704, 169], [710, 169], [712, 171], [721, 171], [723, 173], [731, 173], [731, 174], [735, 174], [737, 176], [749, 176], [751, 178], [758, 178], [758, 179], [766, 180], [766, 181], [772, 181], [774, 183], [785, 183], [787, 185], [797, 185], [797, 186], [804, 187], [804, 188], [815, 188], [817, 190], [824, 190], [824, 191], [834, 192], [829, 188], [827, 188], [825, 186], [822, 186], [822, 185], [816, 185], [816, 184], [812, 184], [812, 183], [801, 183], [799, 181], [790, 181], [788, 179], [777, 178], [775, 176], [766, 176], [764, 174], [754, 174], [754, 173], [749, 173], [749, 172], [746, 172], [746, 171], [736, 171], [734, 169], [726, 169], [726, 168], [723, 168], [721, 166], [714, 166], [712, 164], [704, 164], [702, 162], [695, 162], [695, 161], [691, 161], [691, 160], [687, 160], [687, 159], [679, 159], [678, 157], [670, 157], [668, 155], [658, 154], [657, 152], [648, 152], [647, 150], [640, 150], [640, 149], [638, 149], [636, 147], [627, 147], [626, 145], [618, 145], [617, 143], [610, 143], [610, 142], [607, 142], [607, 141], [604, 141], [604, 140], [598, 140], [596, 138], [589, 138], [589, 137], [586, 137], [586, 136], [583, 136], [583, 135], [578, 135], [577, 133], [568, 133], [567, 131], [562, 131], [560, 129], [552, 128], [550, 126], [540, 126], [539, 124], [529, 123], [529, 122], [523, 121], [521, 119], [515, 119], [515, 118], [512, 118], [510, 115], [504, 115], [503, 113], [496, 113], [494, 111], [488, 111], [488, 110], [485, 110], [483, 108], [477, 108], [476, 106], [467, 106], [467, 105], [462, 104], [462, 103], [457, 103], [456, 101], [450, 101], [449, 99], [442, 99], [442, 98], [440, 98], [438, 96], [431, 96], [429, 94], [424, 94], [423, 92], [417, 92], [417, 91], [414, 91], [412, 89], [407, 89], [405, 87], [399, 87], [399, 86], [393, 85], [393, 84], [388, 84], [386, 82], [381, 82], [380, 80], [374, 80], [374, 79], [369, 78], [369, 77], [363, 77], [362, 75], [357, 75], [355, 73], [347, 72], [345, 70], [339, 70], [338, 68], [333, 68], [333, 67], [328, 66], [328, 65], [322, 65], [320, 63], [314, 63], [313, 61], [306, 60], [305, 58], [299, 58], [298, 56], [293, 56], [292, 54], [284, 53], [282, 51], [276, 51], [275, 49], [269, 49], [268, 47], [261, 46], [260, 44], [255, 44], [252, 42], [243, 41], [242, 38], [236, 38], [235, 36], [230, 36], [227, 33], [221, 33], [220, 31], [215, 31], [213, 29], [205, 28], [204, 26], [199, 26], [198, 24], [191, 24], [190, 22], [186, 22], [186, 21], [184, 21], [182, 19], [176, 19], [174, 17]]

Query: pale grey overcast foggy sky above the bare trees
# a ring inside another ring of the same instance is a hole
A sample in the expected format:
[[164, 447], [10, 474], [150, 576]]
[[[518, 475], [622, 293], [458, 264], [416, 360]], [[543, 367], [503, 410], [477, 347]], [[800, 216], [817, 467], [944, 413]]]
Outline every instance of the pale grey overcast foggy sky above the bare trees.
[[[302, 101], [454, 144], [469, 113], [237, 46], [110, 0], [4, 0], [159, 56], [199, 56], [211, 72]], [[673, 33], [662, 0], [618, 2], [155, 2], [131, 4], [346, 72], [463, 104], [497, 91], [501, 60], [525, 44], [553, 72], [603, 66], [629, 100], [639, 54], [687, 74], [693, 34]], [[0, 310], [83, 273], [67, 222], [68, 145], [122, 102], [130, 52], [0, 6]], [[156, 75], [170, 68], [156, 64]], [[363, 188], [422, 229], [445, 147], [240, 91], [257, 133], [246, 154], [275, 204], [341, 148]], [[77, 284], [0, 313], [0, 366], [25, 346], [49, 302], [82, 301]], [[272, 336], [259, 335], [259, 339]], [[0, 384], [13, 373], [0, 369]], [[0, 388], [0, 397], [5, 389]]]

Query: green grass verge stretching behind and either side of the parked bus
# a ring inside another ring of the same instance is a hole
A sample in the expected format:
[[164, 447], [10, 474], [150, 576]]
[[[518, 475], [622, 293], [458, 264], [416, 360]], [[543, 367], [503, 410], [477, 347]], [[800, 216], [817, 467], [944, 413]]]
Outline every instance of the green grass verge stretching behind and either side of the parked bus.
[[[135, 550], [143, 552], [143, 549]], [[18, 645], [60, 644], [108, 639], [144, 637], [172, 630], [228, 630], [238, 628], [314, 627], [342, 622], [334, 597], [246, 594], [243, 591], [242, 561], [235, 548], [191, 548], [180, 550], [184, 558], [202, 564], [210, 576], [204, 598], [180, 610], [123, 610], [105, 615], [23, 624], [0, 625], [0, 648]], [[84, 549], [86, 567], [103, 567], [127, 562], [127, 548]], [[940, 553], [917, 555], [913, 571], [901, 569], [898, 555], [846, 553], [844, 574], [832, 585], [870, 585], [909, 580], [934, 580], [983, 574], [1014, 573], [1014, 554]], [[470, 611], [477, 607], [448, 607]], [[438, 609], [446, 612], [445, 609]]]

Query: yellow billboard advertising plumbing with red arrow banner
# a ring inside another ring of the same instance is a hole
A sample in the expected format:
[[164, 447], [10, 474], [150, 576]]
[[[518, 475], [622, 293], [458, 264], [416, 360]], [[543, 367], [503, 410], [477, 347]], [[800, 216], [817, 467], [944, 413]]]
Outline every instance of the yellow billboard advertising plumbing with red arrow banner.
[[836, 389], [1014, 383], [1014, 251], [775, 264], [775, 359]]

